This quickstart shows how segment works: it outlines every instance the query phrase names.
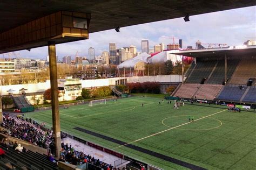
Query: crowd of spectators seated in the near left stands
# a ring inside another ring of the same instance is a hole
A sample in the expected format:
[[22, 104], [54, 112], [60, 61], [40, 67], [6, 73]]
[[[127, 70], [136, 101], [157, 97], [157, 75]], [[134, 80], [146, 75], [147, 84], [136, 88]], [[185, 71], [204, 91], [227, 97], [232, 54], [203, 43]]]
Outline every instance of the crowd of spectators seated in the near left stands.
[[[31, 118], [24, 119], [21, 115], [17, 115], [15, 118], [6, 114], [3, 115], [2, 127], [8, 129], [8, 131], [3, 131], [2, 133], [48, 149], [48, 160], [57, 163], [57, 160], [53, 157], [55, 146], [53, 145], [52, 131], [44, 128], [44, 125], [44, 123], [38, 124], [36, 121], [32, 121]], [[18, 144], [17, 141], [15, 141], [15, 143], [6, 143], [6, 141], [8, 141], [8, 138], [6, 140], [3, 139], [2, 144], [10, 146], [18, 152], [26, 152], [26, 149], [21, 144]], [[62, 143], [62, 152], [58, 161], [72, 165], [81, 165], [89, 162], [90, 164], [102, 167], [104, 170], [119, 169], [114, 168], [112, 165], [105, 164], [99, 161], [99, 159], [91, 157], [89, 154], [86, 155], [83, 152], [78, 152], [71, 145], [64, 145], [64, 143]]]

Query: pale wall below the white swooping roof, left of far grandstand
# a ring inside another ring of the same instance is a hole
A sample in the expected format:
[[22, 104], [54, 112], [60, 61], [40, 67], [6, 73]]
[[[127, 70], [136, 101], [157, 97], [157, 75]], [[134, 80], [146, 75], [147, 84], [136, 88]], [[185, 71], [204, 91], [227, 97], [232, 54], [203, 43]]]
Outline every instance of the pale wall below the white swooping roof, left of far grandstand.
[[156, 76], [134, 76], [127, 77], [127, 83], [135, 83], [135, 82], [182, 82], [181, 75], [156, 75]]

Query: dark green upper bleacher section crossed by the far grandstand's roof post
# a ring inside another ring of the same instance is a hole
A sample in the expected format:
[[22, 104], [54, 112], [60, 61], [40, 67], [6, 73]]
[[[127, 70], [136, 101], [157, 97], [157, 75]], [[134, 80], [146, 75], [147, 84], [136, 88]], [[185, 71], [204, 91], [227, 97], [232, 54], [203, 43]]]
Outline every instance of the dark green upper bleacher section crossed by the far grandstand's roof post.
[[[228, 60], [227, 61], [227, 79], [230, 79], [237, 67], [239, 60]], [[207, 81], [208, 84], [222, 84], [225, 81], [225, 61], [219, 60], [218, 65], [213, 71], [210, 79]]]

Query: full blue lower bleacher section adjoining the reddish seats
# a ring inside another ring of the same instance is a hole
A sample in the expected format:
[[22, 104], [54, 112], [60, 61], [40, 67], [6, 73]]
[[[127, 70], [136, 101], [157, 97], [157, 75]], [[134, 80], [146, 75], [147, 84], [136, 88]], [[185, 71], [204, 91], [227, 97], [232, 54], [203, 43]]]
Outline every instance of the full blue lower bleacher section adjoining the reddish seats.
[[239, 86], [224, 86], [217, 98], [223, 101], [239, 102], [246, 89], [245, 86], [242, 89]]

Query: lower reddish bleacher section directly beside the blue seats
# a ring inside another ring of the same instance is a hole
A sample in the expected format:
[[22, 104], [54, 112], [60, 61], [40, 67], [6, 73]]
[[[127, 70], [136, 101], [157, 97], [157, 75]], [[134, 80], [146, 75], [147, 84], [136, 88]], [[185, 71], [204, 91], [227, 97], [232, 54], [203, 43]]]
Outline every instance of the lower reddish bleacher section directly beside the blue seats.
[[200, 86], [195, 96], [198, 99], [213, 100], [217, 97], [222, 87], [223, 86], [218, 84], [203, 84]]

